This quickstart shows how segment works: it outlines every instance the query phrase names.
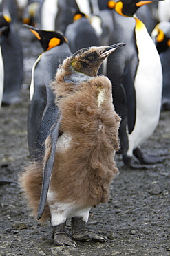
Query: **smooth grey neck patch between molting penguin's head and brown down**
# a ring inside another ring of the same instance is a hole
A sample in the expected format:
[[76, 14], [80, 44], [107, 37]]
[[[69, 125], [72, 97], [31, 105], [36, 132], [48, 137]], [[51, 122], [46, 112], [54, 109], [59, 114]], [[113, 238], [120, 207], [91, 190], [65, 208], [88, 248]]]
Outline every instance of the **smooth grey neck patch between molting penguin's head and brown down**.
[[64, 77], [65, 82], [79, 84], [91, 80], [93, 77], [85, 75], [81, 72], [75, 71], [74, 68], [70, 67], [70, 74], [66, 74]]

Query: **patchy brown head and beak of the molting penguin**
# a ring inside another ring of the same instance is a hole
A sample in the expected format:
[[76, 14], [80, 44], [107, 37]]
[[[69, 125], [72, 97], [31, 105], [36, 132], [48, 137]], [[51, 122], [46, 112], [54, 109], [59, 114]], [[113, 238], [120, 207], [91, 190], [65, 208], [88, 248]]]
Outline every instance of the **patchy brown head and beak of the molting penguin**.
[[82, 48], [70, 57], [70, 66], [78, 73], [95, 77], [103, 60], [113, 53], [116, 48], [124, 45], [124, 43], [118, 43], [111, 46], [92, 46], [89, 48]]

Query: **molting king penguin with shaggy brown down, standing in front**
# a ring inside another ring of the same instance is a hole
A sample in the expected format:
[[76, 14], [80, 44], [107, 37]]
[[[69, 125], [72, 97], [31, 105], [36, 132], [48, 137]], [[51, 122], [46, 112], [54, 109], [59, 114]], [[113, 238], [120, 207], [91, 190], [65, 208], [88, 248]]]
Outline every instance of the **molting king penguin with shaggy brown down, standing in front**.
[[111, 82], [97, 73], [105, 57], [123, 45], [83, 48], [63, 61], [52, 83], [59, 112], [45, 140], [45, 156], [30, 163], [20, 179], [37, 219], [50, 217], [58, 246], [76, 246], [65, 232], [69, 218], [74, 240], [105, 241], [87, 231], [85, 223], [94, 205], [108, 201], [118, 173], [114, 155], [120, 117], [112, 104]]

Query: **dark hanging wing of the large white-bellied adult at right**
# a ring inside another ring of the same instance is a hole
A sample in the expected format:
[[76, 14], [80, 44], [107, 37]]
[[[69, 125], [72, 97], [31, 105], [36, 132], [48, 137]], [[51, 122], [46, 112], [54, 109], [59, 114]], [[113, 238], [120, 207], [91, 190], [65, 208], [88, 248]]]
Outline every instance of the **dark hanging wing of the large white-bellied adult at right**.
[[127, 124], [129, 134], [134, 129], [136, 120], [136, 91], [134, 88], [134, 81], [131, 77], [131, 68], [129, 64], [125, 66], [123, 73], [122, 84], [125, 89], [126, 101], [127, 101]]

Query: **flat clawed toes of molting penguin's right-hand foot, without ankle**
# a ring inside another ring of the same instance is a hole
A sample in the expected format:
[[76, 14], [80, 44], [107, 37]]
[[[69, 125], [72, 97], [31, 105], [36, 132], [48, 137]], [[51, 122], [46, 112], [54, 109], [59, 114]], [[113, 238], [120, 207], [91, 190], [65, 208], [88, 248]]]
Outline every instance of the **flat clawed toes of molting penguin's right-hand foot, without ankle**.
[[94, 232], [83, 230], [80, 232], [74, 233], [72, 238], [76, 241], [96, 241], [100, 243], [105, 242], [105, 238], [101, 237], [100, 235], [96, 235]]

